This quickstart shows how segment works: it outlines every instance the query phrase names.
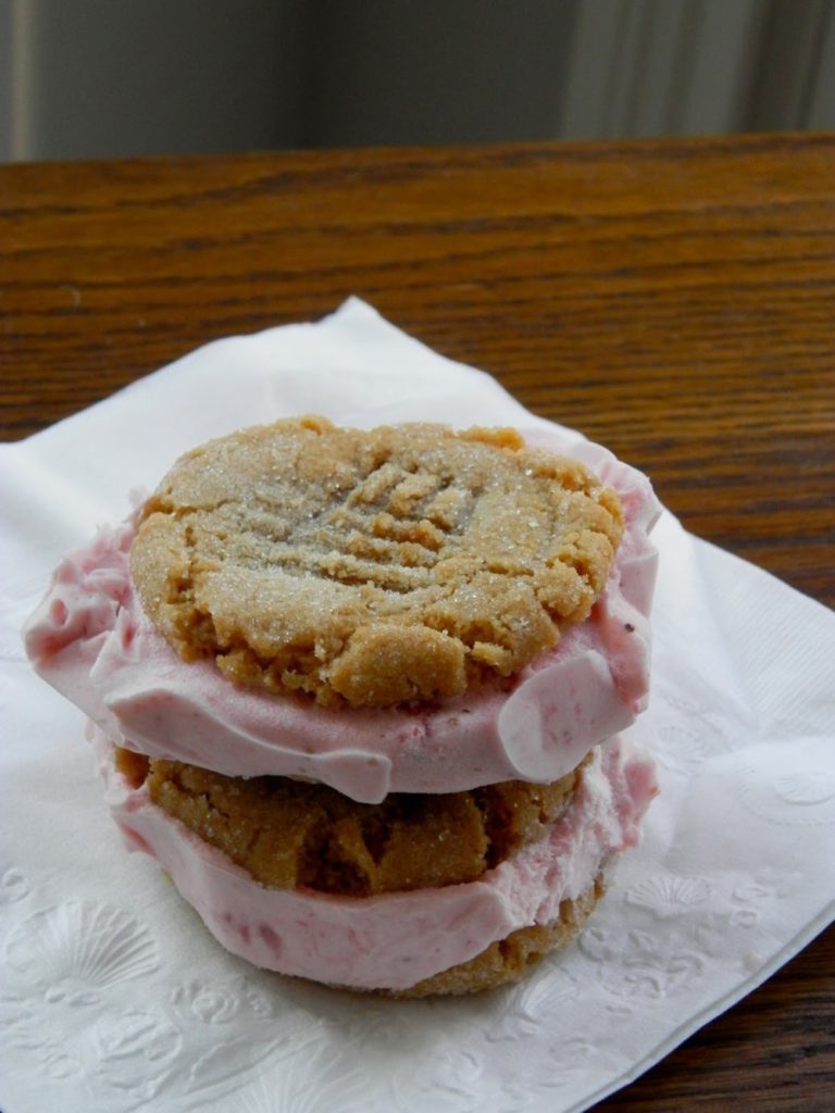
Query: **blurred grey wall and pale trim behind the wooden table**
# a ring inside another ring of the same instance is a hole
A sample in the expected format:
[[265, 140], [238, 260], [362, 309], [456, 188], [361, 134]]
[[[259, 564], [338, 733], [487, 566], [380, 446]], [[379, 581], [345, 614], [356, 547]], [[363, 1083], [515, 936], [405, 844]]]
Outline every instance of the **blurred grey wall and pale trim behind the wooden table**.
[[835, 0], [0, 0], [0, 159], [835, 128]]

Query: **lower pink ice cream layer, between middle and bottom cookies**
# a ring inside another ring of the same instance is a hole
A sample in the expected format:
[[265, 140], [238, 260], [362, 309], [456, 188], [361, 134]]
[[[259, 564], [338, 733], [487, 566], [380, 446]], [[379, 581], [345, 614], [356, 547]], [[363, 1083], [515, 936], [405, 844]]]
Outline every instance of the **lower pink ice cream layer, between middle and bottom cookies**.
[[107, 801], [129, 849], [155, 857], [212, 934], [267, 969], [358, 989], [405, 989], [473, 958], [517, 928], [548, 924], [612, 856], [633, 846], [656, 795], [652, 761], [623, 738], [602, 743], [566, 815], [539, 843], [478, 881], [384, 896], [267, 889], [134, 789], [96, 730]]

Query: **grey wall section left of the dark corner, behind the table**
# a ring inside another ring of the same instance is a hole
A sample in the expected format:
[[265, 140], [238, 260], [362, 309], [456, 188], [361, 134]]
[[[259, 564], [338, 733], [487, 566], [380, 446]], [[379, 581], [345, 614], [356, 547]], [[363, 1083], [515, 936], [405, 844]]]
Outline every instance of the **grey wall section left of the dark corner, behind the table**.
[[303, 88], [301, 7], [285, 0], [0, 0], [0, 40], [9, 56], [0, 70], [0, 155], [96, 158], [289, 146]]

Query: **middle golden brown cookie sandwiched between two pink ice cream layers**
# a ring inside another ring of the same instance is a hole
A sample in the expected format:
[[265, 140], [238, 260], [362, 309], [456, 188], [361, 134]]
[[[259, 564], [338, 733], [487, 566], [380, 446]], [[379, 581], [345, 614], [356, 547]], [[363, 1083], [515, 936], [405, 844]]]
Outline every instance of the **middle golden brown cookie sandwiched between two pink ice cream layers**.
[[116, 766], [261, 885], [356, 897], [475, 880], [544, 835], [578, 776], [357, 804], [325, 785], [225, 777], [119, 748]]

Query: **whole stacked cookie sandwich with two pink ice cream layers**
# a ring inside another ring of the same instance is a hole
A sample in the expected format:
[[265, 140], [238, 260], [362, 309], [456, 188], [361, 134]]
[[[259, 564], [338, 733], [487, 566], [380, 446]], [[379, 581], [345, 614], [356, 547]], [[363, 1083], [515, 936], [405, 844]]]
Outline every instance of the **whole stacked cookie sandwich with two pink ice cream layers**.
[[[183, 456], [26, 631], [229, 951], [422, 996], [564, 946], [639, 837], [658, 505], [558, 430], [279, 421]], [[581, 457], [581, 459], [580, 459]]]

